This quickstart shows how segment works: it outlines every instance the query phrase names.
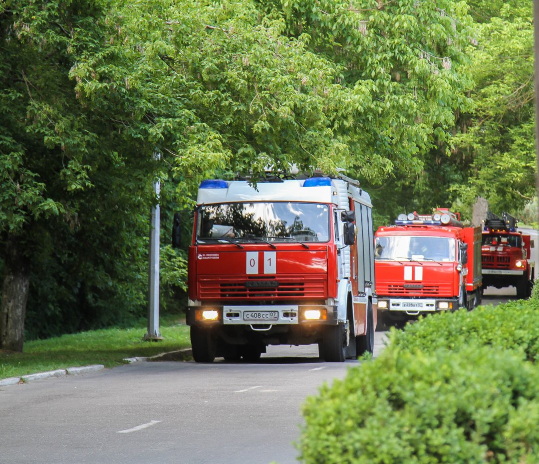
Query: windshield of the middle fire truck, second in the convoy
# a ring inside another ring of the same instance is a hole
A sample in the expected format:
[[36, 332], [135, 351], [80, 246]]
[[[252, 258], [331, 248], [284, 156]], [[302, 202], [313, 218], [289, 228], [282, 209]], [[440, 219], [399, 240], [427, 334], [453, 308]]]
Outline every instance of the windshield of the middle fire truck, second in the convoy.
[[455, 239], [448, 237], [377, 237], [375, 260], [454, 261]]

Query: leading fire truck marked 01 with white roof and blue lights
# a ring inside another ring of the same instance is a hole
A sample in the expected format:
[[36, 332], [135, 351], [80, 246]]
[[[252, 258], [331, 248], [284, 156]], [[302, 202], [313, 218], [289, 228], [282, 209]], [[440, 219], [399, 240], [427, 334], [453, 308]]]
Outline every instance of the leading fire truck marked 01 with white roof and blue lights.
[[371, 209], [345, 176], [203, 181], [188, 259], [195, 361], [252, 362], [278, 344], [317, 343], [328, 362], [372, 352]]

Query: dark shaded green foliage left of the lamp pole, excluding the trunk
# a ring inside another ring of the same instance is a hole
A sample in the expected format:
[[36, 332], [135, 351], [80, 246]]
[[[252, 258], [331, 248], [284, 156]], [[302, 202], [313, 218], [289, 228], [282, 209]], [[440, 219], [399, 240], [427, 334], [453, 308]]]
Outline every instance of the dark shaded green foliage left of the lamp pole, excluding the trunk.
[[70, 71], [102, 49], [109, 2], [0, 12], [0, 259], [31, 261], [26, 339], [145, 314], [154, 146], [123, 130], [131, 101], [82, 102]]

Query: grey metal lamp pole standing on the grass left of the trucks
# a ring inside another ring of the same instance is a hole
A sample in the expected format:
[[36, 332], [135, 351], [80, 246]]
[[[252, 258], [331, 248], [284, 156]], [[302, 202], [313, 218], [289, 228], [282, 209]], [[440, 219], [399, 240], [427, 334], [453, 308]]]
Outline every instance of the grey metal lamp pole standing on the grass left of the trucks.
[[[156, 151], [154, 160], [159, 161], [161, 154]], [[154, 182], [155, 196], [159, 200], [161, 181]], [[143, 340], [163, 340], [159, 333], [159, 234], [160, 210], [159, 203], [151, 207], [150, 252], [148, 258], [148, 331]]]

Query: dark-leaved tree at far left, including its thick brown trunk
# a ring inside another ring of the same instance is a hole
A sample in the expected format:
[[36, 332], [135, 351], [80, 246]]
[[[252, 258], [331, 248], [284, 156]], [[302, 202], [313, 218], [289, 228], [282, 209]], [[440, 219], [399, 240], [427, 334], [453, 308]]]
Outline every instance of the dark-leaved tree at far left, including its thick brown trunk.
[[[48, 294], [39, 281], [45, 302], [38, 306], [67, 306], [91, 301], [95, 287], [102, 292], [125, 281], [125, 270], [118, 271], [113, 259], [121, 248], [123, 254], [139, 252], [140, 241], [114, 239], [133, 237], [121, 225], [137, 223], [141, 206], [149, 205], [153, 147], [121, 133], [123, 107], [107, 114], [107, 102], [100, 111], [81, 105], [69, 75], [82, 56], [102, 47], [106, 6], [16, 0], [0, 6], [1, 349], [23, 349], [32, 272], [54, 281], [49, 290], [63, 290]], [[104, 244], [110, 248], [103, 250]], [[110, 261], [102, 262], [106, 254]], [[50, 314], [36, 316], [34, 325], [49, 322]]]

